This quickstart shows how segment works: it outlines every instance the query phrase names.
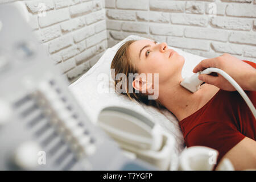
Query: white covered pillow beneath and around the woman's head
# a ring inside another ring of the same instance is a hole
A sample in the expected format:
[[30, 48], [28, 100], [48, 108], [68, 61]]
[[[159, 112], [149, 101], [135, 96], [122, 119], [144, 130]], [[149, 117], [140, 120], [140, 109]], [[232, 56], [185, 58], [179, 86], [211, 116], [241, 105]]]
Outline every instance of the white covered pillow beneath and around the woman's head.
[[[110, 64], [113, 60], [118, 48], [127, 40], [141, 40], [146, 39], [139, 36], [131, 35], [122, 40], [114, 47], [106, 50], [100, 60], [89, 69], [83, 76], [69, 86], [77, 101], [88, 114], [92, 122], [97, 122], [98, 114], [106, 106], [123, 106], [129, 109], [138, 111], [152, 119], [152, 121], [159, 123], [168, 133], [172, 134], [176, 140], [176, 155], [184, 149], [184, 138], [179, 127], [179, 121], [168, 110], [162, 110], [160, 113], [152, 106], [139, 104], [138, 102], [131, 101], [127, 96], [114, 93], [114, 82], [110, 77]], [[188, 52], [183, 52], [181, 49], [170, 47], [177, 51], [185, 58], [185, 64], [181, 75], [191, 76], [192, 69], [205, 57], [192, 55]], [[102, 79], [105, 76], [105, 79]], [[107, 77], [106, 77], [107, 76]], [[102, 93], [111, 90], [113, 93]]]

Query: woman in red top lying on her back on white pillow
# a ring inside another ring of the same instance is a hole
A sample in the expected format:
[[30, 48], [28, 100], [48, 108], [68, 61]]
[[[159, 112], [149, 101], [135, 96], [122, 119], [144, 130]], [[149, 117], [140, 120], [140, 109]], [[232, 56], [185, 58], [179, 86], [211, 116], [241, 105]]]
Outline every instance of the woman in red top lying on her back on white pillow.
[[[238, 60], [228, 54], [219, 59], [230, 57]], [[253, 62], [238, 61], [242, 67], [256, 68]], [[129, 85], [123, 94], [158, 109], [171, 111], [179, 120], [187, 147], [214, 148], [219, 152], [217, 164], [228, 158], [236, 170], [256, 168], [256, 121], [246, 102], [237, 91], [225, 91], [210, 84], [201, 85], [195, 93], [189, 92], [180, 86], [183, 65], [184, 57], [168, 49], [166, 43], [130, 40], [119, 48], [111, 64], [115, 76], [118, 73], [126, 76], [126, 79], [115, 80], [115, 90], [124, 89], [124, 82], [127, 85], [130, 83], [132, 92]], [[138, 73], [138, 76], [129, 82], [129, 73]], [[159, 73], [159, 93], [155, 100], [148, 99], [148, 95], [152, 94], [148, 90], [156, 86], [152, 81], [154, 77], [149, 81], [149, 78], [139, 76], [142, 73]], [[118, 88], [118, 85], [122, 86]], [[246, 91], [246, 94], [255, 106], [256, 92]]]

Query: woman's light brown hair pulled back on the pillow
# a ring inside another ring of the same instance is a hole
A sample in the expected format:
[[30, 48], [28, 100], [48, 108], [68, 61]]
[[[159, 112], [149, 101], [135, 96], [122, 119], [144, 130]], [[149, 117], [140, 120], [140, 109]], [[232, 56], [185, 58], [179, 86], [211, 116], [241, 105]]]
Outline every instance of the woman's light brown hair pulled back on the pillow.
[[[136, 42], [137, 40], [129, 40], [125, 42], [115, 53], [114, 59], [112, 60], [111, 63], [111, 69], [114, 69], [114, 83], [115, 83], [115, 90], [117, 91], [117, 84], [119, 82], [126, 82], [123, 84], [118, 84], [121, 85], [122, 90], [125, 90], [125, 93], [121, 92], [122, 94], [127, 95], [131, 100], [136, 100], [138, 102], [142, 102], [146, 105], [154, 106], [158, 109], [165, 108], [158, 100], [148, 100], [148, 96], [146, 93], [141, 93], [141, 92], [136, 92], [135, 89], [133, 88], [133, 92], [129, 93], [129, 84], [133, 82], [129, 81], [129, 73], [138, 73], [137, 68], [135, 65], [131, 62], [129, 53], [128, 53], [128, 48], [129, 46]], [[121, 79], [121, 80], [115, 80], [115, 77], [117, 76], [118, 73], [124, 73], [126, 76], [126, 79]], [[133, 77], [134, 79], [134, 77]], [[122, 88], [123, 85], [126, 85], [126, 88]]]

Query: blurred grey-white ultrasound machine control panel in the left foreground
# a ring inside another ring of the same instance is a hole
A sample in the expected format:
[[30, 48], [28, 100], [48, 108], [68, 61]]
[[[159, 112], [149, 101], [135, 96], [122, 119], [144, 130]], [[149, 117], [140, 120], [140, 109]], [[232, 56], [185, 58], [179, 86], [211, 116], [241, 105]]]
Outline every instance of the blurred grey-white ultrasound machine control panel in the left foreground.
[[0, 6], [0, 41], [0, 170], [155, 169], [90, 122], [11, 5]]

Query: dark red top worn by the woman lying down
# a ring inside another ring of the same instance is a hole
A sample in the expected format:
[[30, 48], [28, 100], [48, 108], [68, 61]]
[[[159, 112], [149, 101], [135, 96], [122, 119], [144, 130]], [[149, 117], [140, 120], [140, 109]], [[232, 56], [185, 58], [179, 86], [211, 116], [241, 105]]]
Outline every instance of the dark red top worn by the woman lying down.
[[[245, 61], [254, 68], [256, 64]], [[256, 107], [256, 92], [245, 91]], [[185, 144], [219, 152], [217, 163], [243, 138], [256, 140], [256, 120], [237, 91], [219, 90], [207, 104], [179, 122]]]

